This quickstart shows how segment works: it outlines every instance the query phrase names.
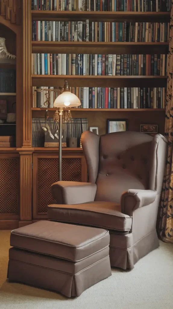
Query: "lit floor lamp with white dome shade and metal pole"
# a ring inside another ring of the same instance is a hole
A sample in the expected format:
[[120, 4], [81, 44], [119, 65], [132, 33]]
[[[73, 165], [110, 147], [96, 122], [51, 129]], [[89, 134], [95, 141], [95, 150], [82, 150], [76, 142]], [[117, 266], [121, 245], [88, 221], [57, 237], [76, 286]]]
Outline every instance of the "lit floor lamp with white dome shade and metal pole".
[[64, 81], [64, 91], [55, 99], [53, 106], [58, 108], [59, 114], [59, 181], [62, 180], [62, 116], [63, 108], [81, 105], [80, 99], [70, 91], [68, 81]]

